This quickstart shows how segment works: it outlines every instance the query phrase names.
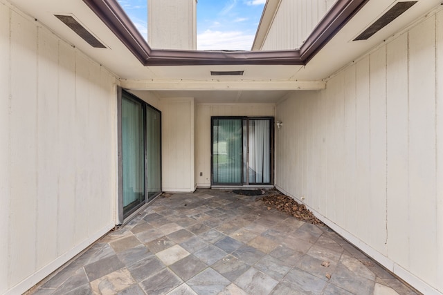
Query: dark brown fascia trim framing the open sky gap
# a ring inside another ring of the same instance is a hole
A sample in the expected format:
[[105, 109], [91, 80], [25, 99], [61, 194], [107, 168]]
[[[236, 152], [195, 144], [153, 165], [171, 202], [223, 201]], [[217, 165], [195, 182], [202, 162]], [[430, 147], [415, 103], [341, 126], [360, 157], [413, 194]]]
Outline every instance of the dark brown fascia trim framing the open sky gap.
[[144, 66], [305, 65], [369, 0], [337, 0], [300, 49], [201, 51], [152, 49], [116, 0], [83, 0]]

